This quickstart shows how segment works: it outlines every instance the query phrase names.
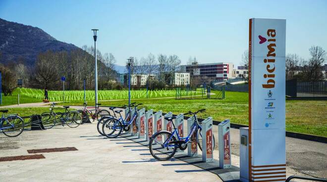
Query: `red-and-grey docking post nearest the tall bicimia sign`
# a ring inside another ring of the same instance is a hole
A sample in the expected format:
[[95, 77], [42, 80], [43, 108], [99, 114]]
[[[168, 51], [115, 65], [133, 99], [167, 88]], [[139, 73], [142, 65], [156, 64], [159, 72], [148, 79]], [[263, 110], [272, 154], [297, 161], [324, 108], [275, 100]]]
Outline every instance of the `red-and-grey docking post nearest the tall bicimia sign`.
[[224, 120], [218, 125], [219, 168], [231, 167], [230, 156], [230, 121]]

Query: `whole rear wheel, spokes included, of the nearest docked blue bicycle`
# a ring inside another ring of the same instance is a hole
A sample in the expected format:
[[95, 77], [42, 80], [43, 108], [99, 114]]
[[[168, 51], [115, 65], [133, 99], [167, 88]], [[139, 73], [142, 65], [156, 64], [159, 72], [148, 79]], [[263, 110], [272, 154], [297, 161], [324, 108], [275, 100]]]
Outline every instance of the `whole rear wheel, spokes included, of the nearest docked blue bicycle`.
[[[167, 131], [161, 131], [156, 133], [154, 136], [151, 137], [149, 141], [149, 149], [151, 155], [160, 161], [169, 160], [177, 150], [177, 144], [174, 144], [172, 146], [164, 147], [163, 143], [166, 142], [171, 137], [171, 133]], [[176, 137], [172, 136], [170, 141], [176, 141]]]

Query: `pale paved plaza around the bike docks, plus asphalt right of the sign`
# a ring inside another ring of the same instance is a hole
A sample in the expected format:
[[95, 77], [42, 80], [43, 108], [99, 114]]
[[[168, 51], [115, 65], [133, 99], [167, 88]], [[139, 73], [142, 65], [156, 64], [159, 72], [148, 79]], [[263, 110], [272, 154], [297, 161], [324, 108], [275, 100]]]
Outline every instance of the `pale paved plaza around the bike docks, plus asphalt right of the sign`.
[[[0, 157], [34, 155], [27, 152], [31, 149], [77, 148], [76, 151], [37, 153], [43, 154], [45, 159], [0, 162], [1, 182], [221, 181], [216, 174], [176, 158], [157, 161], [147, 146], [125, 137], [100, 136], [96, 127], [93, 122], [78, 128], [57, 125], [46, 131], [27, 130], [13, 138], [0, 134]], [[218, 127], [213, 129], [214, 158], [218, 159]], [[186, 130], [184, 133], [186, 135]], [[239, 130], [231, 129], [232, 165], [236, 167], [239, 167], [238, 137]], [[286, 137], [286, 175], [326, 178], [326, 149], [324, 143]], [[316, 155], [311, 155], [313, 151]]]

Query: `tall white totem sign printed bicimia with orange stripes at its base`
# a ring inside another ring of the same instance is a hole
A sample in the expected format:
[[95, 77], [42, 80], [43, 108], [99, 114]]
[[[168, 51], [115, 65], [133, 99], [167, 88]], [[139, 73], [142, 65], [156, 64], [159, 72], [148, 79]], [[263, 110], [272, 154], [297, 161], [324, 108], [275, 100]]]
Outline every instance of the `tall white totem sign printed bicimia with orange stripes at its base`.
[[249, 23], [249, 179], [285, 181], [286, 20]]

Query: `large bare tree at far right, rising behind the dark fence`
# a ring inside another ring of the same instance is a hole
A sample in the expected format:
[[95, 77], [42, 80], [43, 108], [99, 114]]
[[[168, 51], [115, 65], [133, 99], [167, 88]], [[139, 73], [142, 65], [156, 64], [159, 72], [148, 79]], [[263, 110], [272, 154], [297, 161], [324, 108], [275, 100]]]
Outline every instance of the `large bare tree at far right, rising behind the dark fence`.
[[324, 78], [322, 70], [326, 51], [320, 46], [311, 46], [309, 51], [311, 58], [302, 62], [302, 78], [309, 82], [320, 81]]

